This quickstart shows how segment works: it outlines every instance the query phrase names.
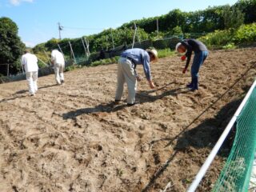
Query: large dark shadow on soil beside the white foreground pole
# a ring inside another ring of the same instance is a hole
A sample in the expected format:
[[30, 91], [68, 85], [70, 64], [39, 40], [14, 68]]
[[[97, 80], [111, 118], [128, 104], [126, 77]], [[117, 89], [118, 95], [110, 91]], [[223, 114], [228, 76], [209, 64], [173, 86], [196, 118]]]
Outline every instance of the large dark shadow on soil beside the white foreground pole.
[[[187, 126], [174, 138], [162, 138], [151, 142], [151, 144], [154, 144], [156, 142], [168, 141], [168, 144], [166, 145], [167, 147], [174, 144], [174, 141], [177, 140], [177, 143], [174, 146], [173, 154], [171, 154], [166, 163], [162, 165], [156, 173], [154, 173], [154, 175], [150, 178], [150, 182], [144, 187], [144, 189], [142, 189], [142, 192], [146, 192], [150, 190], [151, 187], [154, 187], [155, 181], [166, 170], [179, 152], [186, 154], [194, 153], [190, 150], [190, 147], [194, 147], [195, 149], [209, 147], [212, 149], [241, 102], [242, 99], [238, 99], [226, 104], [226, 106], [223, 106], [222, 109], [218, 111], [218, 114], [216, 114], [214, 118], [206, 119], [204, 122], [191, 130], [188, 130], [189, 127]], [[235, 129], [233, 128], [233, 130], [231, 130], [230, 134], [227, 136], [226, 141], [222, 145], [218, 155], [227, 157], [234, 141], [234, 135]]]

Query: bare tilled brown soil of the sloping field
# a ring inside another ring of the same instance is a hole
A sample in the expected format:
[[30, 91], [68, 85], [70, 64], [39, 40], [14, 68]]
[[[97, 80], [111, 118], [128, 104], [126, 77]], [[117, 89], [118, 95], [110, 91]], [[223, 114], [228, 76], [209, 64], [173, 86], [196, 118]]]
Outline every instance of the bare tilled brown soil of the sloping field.
[[[112, 102], [117, 65], [67, 72], [63, 86], [39, 78], [35, 97], [26, 81], [0, 85], [0, 191], [185, 191], [253, 82], [255, 50], [211, 51], [198, 92], [179, 57], [162, 58], [151, 65], [158, 90], [144, 79], [132, 107]], [[230, 143], [198, 191], [210, 191]]]

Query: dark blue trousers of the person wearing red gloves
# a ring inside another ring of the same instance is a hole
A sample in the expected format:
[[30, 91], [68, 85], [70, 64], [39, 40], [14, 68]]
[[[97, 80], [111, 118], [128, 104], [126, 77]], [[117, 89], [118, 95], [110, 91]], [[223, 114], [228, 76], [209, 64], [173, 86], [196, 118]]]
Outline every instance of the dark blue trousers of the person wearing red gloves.
[[198, 90], [198, 72], [200, 66], [202, 66], [203, 62], [206, 60], [208, 56], [208, 51], [200, 51], [199, 53], [194, 53], [194, 60], [191, 66], [191, 85], [194, 90]]

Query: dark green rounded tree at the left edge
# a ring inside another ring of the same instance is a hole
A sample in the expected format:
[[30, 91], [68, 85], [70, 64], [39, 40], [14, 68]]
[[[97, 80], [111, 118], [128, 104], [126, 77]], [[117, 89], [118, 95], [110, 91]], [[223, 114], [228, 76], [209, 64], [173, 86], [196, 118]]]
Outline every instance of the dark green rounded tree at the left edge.
[[[10, 64], [10, 74], [21, 70], [18, 63], [25, 45], [18, 37], [18, 26], [10, 18], [0, 18], [0, 64]], [[6, 75], [6, 66], [0, 66], [0, 73]]]

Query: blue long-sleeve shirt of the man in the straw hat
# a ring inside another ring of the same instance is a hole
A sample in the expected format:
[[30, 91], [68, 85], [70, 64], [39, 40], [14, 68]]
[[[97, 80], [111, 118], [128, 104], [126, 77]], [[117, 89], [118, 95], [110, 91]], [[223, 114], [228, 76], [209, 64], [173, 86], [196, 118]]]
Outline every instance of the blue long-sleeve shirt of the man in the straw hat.
[[146, 50], [134, 48], [125, 50], [121, 54], [122, 58], [130, 58], [135, 65], [143, 65], [144, 73], [147, 80], [152, 80], [150, 71], [150, 55]]

